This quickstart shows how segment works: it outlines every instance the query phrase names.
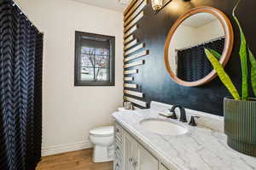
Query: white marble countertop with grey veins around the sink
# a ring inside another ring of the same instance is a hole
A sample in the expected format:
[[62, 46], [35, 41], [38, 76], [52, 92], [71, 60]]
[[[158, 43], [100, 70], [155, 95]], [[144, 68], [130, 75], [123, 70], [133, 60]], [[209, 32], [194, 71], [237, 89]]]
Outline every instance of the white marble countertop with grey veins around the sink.
[[114, 112], [113, 117], [170, 169], [256, 170], [256, 158], [230, 149], [222, 132], [183, 123], [189, 128], [189, 132], [183, 135], [151, 133], [140, 127], [139, 122], [151, 118], [171, 121], [154, 110], [119, 111]]

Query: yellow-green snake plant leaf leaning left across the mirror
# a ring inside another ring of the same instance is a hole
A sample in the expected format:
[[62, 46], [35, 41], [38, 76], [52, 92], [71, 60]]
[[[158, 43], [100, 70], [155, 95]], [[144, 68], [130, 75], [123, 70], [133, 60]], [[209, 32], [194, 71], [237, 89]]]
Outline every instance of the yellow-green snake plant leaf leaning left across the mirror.
[[218, 77], [220, 78], [221, 82], [223, 82], [224, 86], [226, 88], [228, 88], [228, 90], [230, 91], [230, 94], [232, 94], [233, 98], [241, 99], [240, 95], [237, 92], [235, 85], [231, 81], [229, 75], [224, 71], [224, 68], [219, 63], [218, 59], [216, 59], [216, 57], [207, 48], [205, 48], [205, 53], [207, 54], [207, 58], [212, 63], [214, 70], [217, 72]]

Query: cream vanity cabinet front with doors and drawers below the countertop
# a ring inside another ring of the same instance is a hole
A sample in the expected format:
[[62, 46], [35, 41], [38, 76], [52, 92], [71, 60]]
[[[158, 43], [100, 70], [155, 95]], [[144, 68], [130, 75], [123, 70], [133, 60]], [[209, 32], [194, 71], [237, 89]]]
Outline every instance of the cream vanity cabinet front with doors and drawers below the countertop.
[[[119, 139], [121, 137], [121, 139]], [[121, 143], [119, 143], [121, 141]], [[114, 170], [170, 170], [115, 122]]]

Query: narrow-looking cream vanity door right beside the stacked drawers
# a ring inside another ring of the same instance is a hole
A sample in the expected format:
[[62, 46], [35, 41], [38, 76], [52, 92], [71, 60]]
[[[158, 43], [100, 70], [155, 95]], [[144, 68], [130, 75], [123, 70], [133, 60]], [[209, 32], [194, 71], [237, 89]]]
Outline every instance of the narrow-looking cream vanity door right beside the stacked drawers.
[[136, 141], [130, 134], [124, 133], [124, 170], [135, 170]]

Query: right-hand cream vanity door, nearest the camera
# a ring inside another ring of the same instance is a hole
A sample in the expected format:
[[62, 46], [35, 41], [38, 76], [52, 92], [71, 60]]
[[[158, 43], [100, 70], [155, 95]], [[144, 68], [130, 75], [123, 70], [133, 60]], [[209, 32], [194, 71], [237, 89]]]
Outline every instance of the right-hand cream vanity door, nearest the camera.
[[158, 170], [158, 160], [137, 143], [136, 170]]

